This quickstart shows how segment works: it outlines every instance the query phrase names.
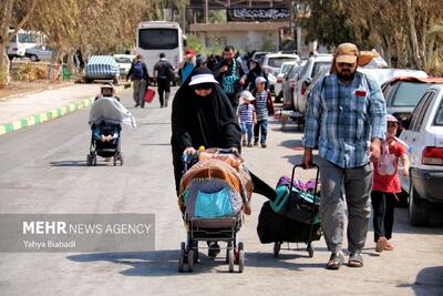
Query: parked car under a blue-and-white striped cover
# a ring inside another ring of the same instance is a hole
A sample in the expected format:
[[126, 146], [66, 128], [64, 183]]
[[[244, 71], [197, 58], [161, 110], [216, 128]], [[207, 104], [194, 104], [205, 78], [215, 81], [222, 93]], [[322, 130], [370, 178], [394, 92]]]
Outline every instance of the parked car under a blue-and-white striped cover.
[[84, 79], [86, 83], [94, 80], [113, 80], [119, 83], [119, 64], [111, 55], [92, 55], [87, 61]]

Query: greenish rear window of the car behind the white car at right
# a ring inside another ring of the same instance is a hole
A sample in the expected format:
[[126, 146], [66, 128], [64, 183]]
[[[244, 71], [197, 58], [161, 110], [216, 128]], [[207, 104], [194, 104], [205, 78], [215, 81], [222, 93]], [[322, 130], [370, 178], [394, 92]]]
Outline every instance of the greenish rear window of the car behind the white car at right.
[[416, 83], [402, 81], [396, 88], [394, 93], [392, 105], [393, 106], [415, 106], [419, 103], [420, 98], [431, 86], [430, 83]]

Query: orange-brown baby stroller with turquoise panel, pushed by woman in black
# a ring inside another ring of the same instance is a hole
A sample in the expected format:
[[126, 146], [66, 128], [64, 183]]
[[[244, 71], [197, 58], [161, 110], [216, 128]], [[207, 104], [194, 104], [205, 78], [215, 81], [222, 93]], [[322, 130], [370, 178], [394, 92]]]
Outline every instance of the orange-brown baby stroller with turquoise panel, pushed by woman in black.
[[[230, 150], [212, 149], [198, 153], [197, 160], [184, 155], [178, 204], [187, 232], [181, 244], [178, 272], [193, 272], [198, 263], [198, 242], [226, 242], [229, 272], [238, 264], [245, 268], [245, 249], [237, 242], [243, 212], [250, 213], [251, 182], [239, 155]], [[195, 163], [189, 170], [188, 164]], [[210, 246], [208, 246], [210, 248]]]

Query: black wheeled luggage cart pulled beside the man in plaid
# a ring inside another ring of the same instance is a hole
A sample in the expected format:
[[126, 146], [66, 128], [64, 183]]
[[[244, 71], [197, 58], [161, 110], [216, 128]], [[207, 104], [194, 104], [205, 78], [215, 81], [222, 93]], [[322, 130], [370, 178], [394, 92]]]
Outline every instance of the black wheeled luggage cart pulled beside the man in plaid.
[[318, 178], [311, 186], [300, 186], [295, 182], [295, 165], [289, 181], [281, 177], [277, 185], [277, 198], [266, 202], [258, 217], [257, 233], [262, 244], [274, 243], [274, 256], [278, 257], [284, 242], [305, 243], [309, 257], [313, 256], [312, 242], [321, 237], [319, 218]]

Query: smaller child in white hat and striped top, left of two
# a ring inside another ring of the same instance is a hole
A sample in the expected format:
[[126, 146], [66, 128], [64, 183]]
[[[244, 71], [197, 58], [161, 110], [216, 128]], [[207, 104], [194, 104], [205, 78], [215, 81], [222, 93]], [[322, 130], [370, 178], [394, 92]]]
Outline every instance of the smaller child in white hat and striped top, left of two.
[[[248, 91], [240, 93], [240, 106], [238, 108], [238, 118], [240, 119], [243, 145], [253, 146], [253, 126], [257, 122], [256, 109], [251, 102], [256, 100]], [[247, 144], [246, 144], [247, 140]]]

